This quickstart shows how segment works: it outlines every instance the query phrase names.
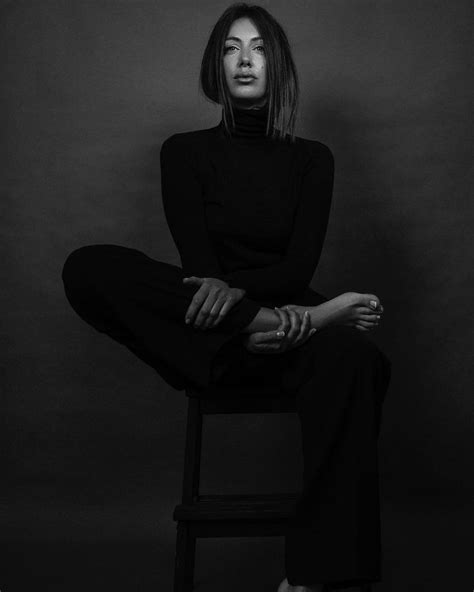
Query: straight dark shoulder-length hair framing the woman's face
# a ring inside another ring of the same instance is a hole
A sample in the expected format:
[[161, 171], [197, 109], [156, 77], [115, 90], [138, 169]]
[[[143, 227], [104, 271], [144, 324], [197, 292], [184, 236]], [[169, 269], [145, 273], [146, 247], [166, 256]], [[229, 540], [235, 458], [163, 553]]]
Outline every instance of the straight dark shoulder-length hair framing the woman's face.
[[266, 133], [269, 135], [273, 128], [273, 138], [284, 139], [288, 134], [294, 142], [299, 100], [298, 74], [285, 31], [262, 6], [236, 2], [224, 11], [214, 25], [204, 50], [199, 86], [208, 99], [223, 106], [224, 126], [229, 132], [229, 115], [234, 124], [234, 112], [224, 77], [224, 44], [232, 23], [242, 17], [254, 23], [265, 46], [268, 96]]

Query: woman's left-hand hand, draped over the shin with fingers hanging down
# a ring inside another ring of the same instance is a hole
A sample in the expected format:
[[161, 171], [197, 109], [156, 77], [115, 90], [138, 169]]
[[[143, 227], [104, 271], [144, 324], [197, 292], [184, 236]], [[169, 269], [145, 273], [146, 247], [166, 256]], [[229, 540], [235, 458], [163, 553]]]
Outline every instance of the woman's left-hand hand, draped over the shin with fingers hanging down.
[[218, 325], [245, 295], [245, 290], [230, 288], [226, 282], [217, 278], [193, 275], [183, 278], [183, 282], [199, 286], [185, 315], [185, 323], [193, 323], [196, 329], [211, 329]]

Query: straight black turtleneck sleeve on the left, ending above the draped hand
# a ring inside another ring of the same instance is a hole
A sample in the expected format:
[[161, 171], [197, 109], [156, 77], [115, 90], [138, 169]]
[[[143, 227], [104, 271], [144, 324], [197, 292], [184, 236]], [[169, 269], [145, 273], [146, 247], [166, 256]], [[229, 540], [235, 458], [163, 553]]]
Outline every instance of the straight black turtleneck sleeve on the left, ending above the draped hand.
[[202, 186], [189, 144], [180, 141], [179, 134], [163, 142], [160, 165], [163, 209], [184, 272], [222, 278], [207, 229]]

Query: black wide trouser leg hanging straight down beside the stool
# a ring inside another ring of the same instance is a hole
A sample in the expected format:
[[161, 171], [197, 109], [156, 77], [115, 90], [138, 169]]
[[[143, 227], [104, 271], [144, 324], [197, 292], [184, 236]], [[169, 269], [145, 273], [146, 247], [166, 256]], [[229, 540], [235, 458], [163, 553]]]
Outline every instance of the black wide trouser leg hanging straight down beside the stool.
[[291, 376], [300, 381], [304, 487], [286, 535], [288, 581], [378, 581], [377, 438], [390, 361], [351, 327], [327, 327], [314, 337]]

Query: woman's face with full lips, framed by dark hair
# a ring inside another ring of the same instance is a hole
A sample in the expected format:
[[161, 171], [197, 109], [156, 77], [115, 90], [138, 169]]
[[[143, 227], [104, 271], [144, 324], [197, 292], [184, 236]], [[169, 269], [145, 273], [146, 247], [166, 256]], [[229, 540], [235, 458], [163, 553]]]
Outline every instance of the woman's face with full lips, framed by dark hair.
[[[224, 45], [224, 73], [234, 105], [260, 107], [266, 102], [267, 71], [263, 39], [248, 18], [232, 23]], [[247, 78], [241, 78], [246, 75]]]

